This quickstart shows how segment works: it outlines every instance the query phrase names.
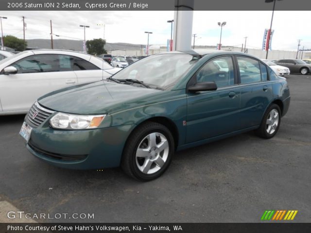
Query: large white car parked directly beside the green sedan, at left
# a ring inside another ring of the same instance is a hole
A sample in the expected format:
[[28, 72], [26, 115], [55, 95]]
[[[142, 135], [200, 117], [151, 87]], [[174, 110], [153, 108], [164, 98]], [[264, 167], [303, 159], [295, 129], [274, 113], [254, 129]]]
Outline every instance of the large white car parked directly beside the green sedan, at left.
[[17, 53], [0, 61], [0, 115], [27, 113], [35, 100], [46, 93], [73, 84], [100, 81], [119, 70], [103, 59], [81, 52]]

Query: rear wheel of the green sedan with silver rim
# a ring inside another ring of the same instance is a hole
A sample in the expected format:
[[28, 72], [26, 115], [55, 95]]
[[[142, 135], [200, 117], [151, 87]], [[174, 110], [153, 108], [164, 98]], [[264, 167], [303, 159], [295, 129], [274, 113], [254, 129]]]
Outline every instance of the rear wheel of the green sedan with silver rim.
[[255, 133], [262, 138], [272, 138], [276, 135], [281, 123], [281, 110], [277, 104], [272, 104], [263, 115], [259, 129]]

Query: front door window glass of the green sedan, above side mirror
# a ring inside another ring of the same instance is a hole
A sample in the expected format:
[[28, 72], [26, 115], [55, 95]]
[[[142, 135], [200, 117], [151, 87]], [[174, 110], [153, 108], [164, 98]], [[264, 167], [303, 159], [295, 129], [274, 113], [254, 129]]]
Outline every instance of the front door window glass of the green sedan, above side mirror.
[[217, 87], [234, 84], [233, 62], [230, 56], [219, 57], [205, 64], [196, 74], [197, 83], [215, 82]]

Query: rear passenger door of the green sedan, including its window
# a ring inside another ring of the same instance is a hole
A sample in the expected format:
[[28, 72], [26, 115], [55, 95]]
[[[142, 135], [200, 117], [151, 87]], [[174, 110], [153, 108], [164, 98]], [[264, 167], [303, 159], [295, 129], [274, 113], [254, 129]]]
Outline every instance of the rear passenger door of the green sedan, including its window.
[[239, 120], [241, 129], [246, 129], [260, 124], [266, 107], [273, 99], [272, 83], [268, 81], [265, 64], [250, 57], [236, 56], [236, 59], [241, 87]]

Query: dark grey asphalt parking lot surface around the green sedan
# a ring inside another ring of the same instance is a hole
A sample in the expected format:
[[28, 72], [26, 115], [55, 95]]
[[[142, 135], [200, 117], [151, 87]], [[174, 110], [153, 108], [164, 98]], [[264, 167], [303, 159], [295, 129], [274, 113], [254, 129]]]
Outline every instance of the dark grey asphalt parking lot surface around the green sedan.
[[0, 116], [0, 201], [33, 214], [94, 214], [41, 222], [260, 222], [265, 210], [298, 210], [294, 222], [311, 222], [311, 75], [287, 80], [291, 105], [274, 138], [250, 132], [179, 151], [148, 183], [120, 168], [50, 166], [18, 135], [24, 116]]

